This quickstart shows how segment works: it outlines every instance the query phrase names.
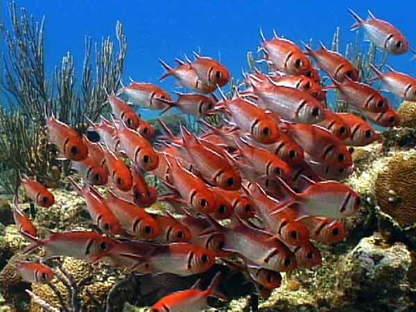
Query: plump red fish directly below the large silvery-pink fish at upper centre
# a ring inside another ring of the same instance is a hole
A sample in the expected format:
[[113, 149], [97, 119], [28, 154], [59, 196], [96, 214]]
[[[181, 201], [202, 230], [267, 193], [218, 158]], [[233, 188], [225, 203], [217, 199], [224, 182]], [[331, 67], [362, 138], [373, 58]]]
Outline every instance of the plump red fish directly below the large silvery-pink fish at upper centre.
[[255, 140], [264, 144], [272, 143], [279, 137], [279, 128], [272, 116], [266, 114], [266, 110], [243, 98], [227, 100], [224, 94], [221, 93], [221, 95], [223, 102], [220, 105], [232, 117], [232, 122], [243, 132], [250, 133]]

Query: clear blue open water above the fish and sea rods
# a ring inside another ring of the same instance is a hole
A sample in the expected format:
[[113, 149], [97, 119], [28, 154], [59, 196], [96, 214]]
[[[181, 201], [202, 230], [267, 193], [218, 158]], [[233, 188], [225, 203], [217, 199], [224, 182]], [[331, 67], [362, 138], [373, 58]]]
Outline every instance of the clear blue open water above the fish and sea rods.
[[[8, 1], [1, 1], [3, 18], [8, 19]], [[107, 35], [115, 36], [116, 21], [125, 26], [128, 58], [124, 81], [158, 83], [164, 69], [157, 58], [174, 65], [174, 58], [192, 51], [219, 58], [236, 77], [247, 68], [247, 51], [260, 43], [259, 28], [267, 38], [274, 28], [279, 35], [297, 44], [322, 41], [331, 46], [333, 33], [341, 28], [342, 46], [354, 40], [349, 31], [354, 19], [347, 8], [361, 17], [372, 10], [376, 17], [390, 21], [416, 46], [415, 21], [410, 18], [416, 4], [410, 1], [381, 4], [380, 1], [110, 1], [19, 0], [35, 17], [46, 16], [46, 62], [53, 70], [67, 51], [73, 53], [78, 73], [82, 70], [85, 35], [98, 42]], [[315, 48], [318, 45], [315, 44]], [[390, 65], [415, 75], [416, 61], [411, 55], [393, 56]], [[159, 84], [159, 83], [158, 83]], [[171, 90], [174, 79], [160, 83]]]

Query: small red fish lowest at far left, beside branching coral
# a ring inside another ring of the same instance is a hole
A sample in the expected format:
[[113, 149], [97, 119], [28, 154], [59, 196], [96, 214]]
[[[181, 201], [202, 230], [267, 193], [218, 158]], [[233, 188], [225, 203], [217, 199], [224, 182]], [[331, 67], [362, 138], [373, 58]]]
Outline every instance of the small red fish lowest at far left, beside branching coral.
[[17, 261], [16, 268], [21, 279], [28, 283], [48, 284], [55, 277], [55, 272], [42, 263]]

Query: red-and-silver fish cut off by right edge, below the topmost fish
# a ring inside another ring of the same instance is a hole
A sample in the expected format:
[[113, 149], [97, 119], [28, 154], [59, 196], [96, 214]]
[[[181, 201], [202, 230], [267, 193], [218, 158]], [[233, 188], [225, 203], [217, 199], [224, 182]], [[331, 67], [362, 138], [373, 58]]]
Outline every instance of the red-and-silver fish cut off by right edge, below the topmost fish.
[[376, 73], [377, 77], [373, 80], [381, 80], [388, 91], [403, 98], [405, 101], [416, 101], [416, 79], [406, 75], [406, 73], [399, 73], [390, 66], [386, 67], [390, 73], [383, 73], [377, 69], [373, 64], [368, 64], [370, 68]]

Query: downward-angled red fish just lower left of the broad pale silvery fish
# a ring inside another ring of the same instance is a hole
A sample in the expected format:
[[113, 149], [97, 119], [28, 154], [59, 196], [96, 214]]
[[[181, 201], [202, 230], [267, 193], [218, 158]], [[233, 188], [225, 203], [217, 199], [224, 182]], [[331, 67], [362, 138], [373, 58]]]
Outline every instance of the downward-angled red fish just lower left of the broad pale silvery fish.
[[297, 214], [291, 209], [282, 209], [275, 214], [275, 207], [279, 207], [279, 201], [268, 196], [257, 184], [248, 183], [244, 187], [245, 191], [250, 194], [252, 200], [259, 211], [261, 220], [268, 232], [279, 234], [284, 243], [290, 245], [303, 245], [309, 242], [309, 229], [297, 221]]

